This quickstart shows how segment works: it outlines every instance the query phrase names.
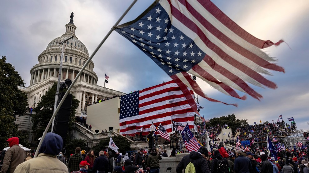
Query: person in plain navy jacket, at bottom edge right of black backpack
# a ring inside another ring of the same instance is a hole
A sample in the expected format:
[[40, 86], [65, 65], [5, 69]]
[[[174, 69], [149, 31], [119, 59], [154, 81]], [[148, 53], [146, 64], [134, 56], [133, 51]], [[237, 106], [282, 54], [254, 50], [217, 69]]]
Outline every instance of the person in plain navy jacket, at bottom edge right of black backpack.
[[236, 173], [250, 173], [252, 171], [252, 164], [249, 158], [242, 154], [241, 150], [236, 151], [236, 159], [234, 161], [234, 171]]

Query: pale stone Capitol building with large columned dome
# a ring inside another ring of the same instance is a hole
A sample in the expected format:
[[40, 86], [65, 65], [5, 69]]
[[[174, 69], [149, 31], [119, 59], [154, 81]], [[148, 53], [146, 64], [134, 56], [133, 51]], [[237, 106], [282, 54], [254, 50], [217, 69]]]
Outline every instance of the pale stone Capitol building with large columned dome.
[[[77, 27], [73, 23], [73, 16], [71, 16], [70, 22], [65, 27], [66, 32], [61, 37], [52, 40], [47, 45], [46, 50], [37, 57], [39, 63], [30, 70], [30, 86], [19, 87], [20, 90], [27, 93], [29, 107], [34, 107], [35, 104], [40, 102], [41, 97], [52, 87], [54, 82], [58, 81], [61, 49], [57, 41], [62, 42], [72, 35], [74, 36], [67, 41], [67, 49], [62, 59], [62, 72], [60, 72], [61, 82], [64, 82], [65, 79], [73, 81], [89, 58], [86, 46], [75, 35]], [[94, 63], [91, 61], [71, 89], [71, 94], [80, 101], [77, 116], [87, 115], [87, 106], [96, 101], [110, 98], [114, 95], [125, 95], [123, 92], [98, 86], [98, 77], [93, 68]]]

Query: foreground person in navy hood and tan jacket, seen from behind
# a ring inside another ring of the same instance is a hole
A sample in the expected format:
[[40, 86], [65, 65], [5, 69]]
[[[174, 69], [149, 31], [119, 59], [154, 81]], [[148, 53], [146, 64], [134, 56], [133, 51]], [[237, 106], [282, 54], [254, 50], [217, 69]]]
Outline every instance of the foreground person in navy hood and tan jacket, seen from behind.
[[46, 136], [42, 141], [42, 145], [39, 149], [40, 154], [38, 157], [19, 164], [15, 169], [15, 173], [67, 173], [67, 166], [63, 164], [62, 161], [57, 159], [57, 154], [61, 152], [62, 147], [63, 140], [61, 136], [56, 133], [46, 133]]

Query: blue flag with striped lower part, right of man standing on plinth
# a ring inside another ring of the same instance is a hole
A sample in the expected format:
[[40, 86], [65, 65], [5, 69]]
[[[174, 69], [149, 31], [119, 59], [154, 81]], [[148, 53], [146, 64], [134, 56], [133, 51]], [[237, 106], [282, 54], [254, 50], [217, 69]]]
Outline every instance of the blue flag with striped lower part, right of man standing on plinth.
[[197, 142], [195, 136], [190, 131], [189, 124], [185, 126], [185, 129], [182, 131], [181, 134], [187, 150], [197, 151], [201, 147], [201, 145]]

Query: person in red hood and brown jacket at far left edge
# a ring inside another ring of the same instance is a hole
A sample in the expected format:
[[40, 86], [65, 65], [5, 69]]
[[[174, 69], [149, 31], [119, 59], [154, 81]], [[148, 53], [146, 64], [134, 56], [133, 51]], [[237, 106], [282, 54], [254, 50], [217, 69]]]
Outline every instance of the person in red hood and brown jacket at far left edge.
[[25, 161], [26, 152], [19, 147], [19, 138], [8, 138], [9, 149], [5, 152], [0, 173], [13, 173], [17, 165]]

